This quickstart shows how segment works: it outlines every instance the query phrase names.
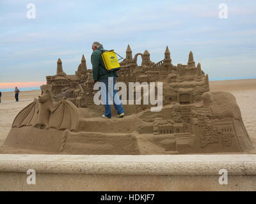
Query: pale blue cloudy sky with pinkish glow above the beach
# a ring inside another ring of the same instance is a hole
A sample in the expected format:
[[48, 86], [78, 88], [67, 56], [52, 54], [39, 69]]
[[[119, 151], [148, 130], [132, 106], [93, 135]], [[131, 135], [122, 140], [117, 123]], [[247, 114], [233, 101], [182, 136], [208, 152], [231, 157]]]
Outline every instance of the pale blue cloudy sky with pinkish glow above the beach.
[[68, 75], [83, 54], [92, 68], [93, 41], [123, 57], [128, 44], [133, 56], [148, 50], [153, 62], [168, 45], [172, 64], [186, 64], [192, 51], [210, 80], [256, 78], [256, 1], [0, 0], [0, 89], [44, 83], [59, 57]]

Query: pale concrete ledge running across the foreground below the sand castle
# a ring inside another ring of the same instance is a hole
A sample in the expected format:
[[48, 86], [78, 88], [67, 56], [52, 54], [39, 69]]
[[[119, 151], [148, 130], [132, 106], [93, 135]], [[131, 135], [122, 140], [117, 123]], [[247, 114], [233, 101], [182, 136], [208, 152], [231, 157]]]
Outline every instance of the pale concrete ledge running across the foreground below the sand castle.
[[[26, 183], [28, 169], [36, 185]], [[220, 185], [219, 170], [228, 172]], [[177, 191], [256, 190], [256, 155], [0, 154], [0, 190]]]

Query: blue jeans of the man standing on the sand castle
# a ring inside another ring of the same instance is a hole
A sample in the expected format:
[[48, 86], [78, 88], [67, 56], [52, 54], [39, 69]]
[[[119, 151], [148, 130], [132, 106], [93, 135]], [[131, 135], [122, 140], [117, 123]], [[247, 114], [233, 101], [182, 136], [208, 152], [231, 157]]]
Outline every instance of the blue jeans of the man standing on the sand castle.
[[[111, 105], [110, 99], [113, 101], [117, 114], [124, 113], [122, 102], [118, 96], [117, 90], [114, 88], [116, 84], [116, 77], [102, 78], [99, 80], [106, 85], [106, 87], [100, 87], [101, 100], [105, 107], [104, 115], [111, 118]], [[109, 99], [110, 98], [110, 99]]]

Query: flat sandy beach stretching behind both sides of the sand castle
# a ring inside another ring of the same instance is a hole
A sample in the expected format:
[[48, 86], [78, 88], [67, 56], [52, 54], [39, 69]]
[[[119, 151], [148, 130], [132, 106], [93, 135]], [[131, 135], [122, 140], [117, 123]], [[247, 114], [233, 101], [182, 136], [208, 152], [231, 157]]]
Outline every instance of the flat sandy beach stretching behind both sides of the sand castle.
[[[212, 81], [211, 91], [227, 91], [234, 94], [240, 107], [244, 125], [256, 147], [256, 79]], [[17, 113], [41, 94], [41, 91], [22, 91], [19, 102], [15, 102], [14, 92], [2, 92], [0, 103], [0, 145], [4, 142]]]

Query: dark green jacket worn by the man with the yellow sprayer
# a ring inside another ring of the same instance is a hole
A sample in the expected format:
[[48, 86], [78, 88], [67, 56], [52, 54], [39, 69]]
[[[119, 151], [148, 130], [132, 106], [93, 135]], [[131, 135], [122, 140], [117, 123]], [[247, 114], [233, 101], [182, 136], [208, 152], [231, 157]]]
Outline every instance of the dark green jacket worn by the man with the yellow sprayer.
[[91, 55], [92, 62], [92, 78], [94, 81], [99, 81], [101, 78], [118, 77], [116, 71], [107, 71], [104, 68], [104, 62], [102, 61], [101, 54], [103, 47], [94, 50]]

